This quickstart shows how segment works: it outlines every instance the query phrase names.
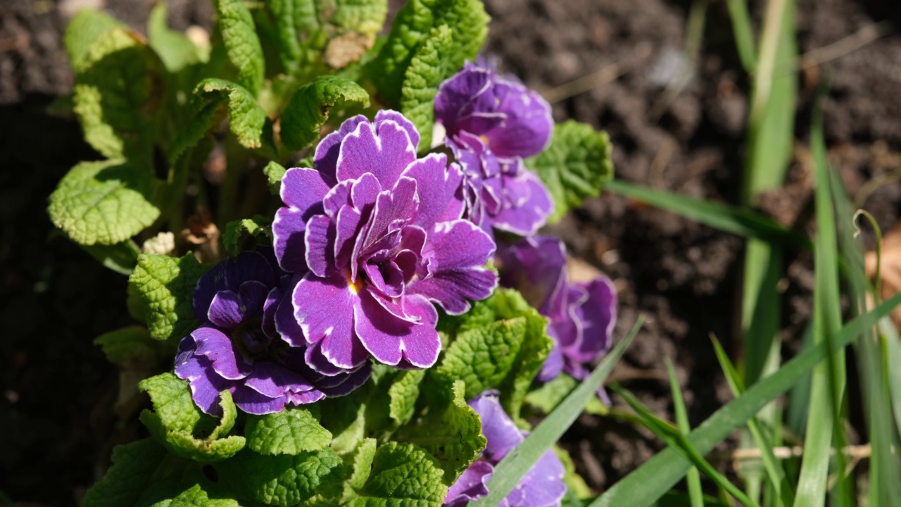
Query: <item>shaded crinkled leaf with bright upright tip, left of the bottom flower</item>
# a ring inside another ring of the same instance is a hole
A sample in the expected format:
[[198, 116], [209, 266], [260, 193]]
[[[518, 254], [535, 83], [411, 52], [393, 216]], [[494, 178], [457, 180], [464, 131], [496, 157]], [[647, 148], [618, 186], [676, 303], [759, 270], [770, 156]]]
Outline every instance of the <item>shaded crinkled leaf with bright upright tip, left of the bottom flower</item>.
[[449, 486], [476, 461], [487, 443], [478, 412], [464, 398], [463, 381], [454, 382], [451, 389], [451, 402], [443, 410], [429, 407], [428, 414], [397, 433], [398, 440], [423, 447], [438, 459], [444, 484]]

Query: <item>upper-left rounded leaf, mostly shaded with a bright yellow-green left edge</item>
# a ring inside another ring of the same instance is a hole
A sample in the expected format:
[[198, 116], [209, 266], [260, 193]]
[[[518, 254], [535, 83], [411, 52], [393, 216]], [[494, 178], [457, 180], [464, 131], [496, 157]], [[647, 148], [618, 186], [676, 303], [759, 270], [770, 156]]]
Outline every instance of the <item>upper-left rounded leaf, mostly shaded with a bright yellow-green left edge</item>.
[[101, 33], [76, 74], [74, 110], [85, 140], [110, 159], [150, 156], [165, 97], [162, 63], [139, 37], [122, 28]]

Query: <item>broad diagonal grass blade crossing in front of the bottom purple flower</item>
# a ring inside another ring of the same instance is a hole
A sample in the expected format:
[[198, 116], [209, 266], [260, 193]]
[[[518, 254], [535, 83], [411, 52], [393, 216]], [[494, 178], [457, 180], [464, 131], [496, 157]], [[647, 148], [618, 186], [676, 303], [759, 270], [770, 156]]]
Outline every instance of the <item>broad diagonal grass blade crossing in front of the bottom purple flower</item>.
[[613, 371], [614, 364], [623, 356], [643, 324], [644, 316], [640, 315], [629, 334], [605, 355], [586, 381], [570, 392], [566, 399], [560, 402], [560, 405], [532, 430], [522, 444], [504, 456], [504, 459], [495, 467], [495, 472], [488, 483], [489, 493], [478, 502], [470, 502], [472, 507], [497, 505], [513, 491], [516, 484], [532, 469], [538, 459], [557, 442], [564, 431], [569, 429], [588, 400], [595, 395], [607, 375]]

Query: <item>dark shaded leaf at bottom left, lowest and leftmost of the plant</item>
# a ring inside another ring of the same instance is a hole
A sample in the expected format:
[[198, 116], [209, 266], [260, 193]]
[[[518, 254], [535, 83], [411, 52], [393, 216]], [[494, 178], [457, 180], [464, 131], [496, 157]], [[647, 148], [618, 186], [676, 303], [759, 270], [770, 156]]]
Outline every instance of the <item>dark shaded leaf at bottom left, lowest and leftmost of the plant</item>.
[[113, 466], [91, 489], [84, 507], [120, 507], [137, 502], [153, 472], [166, 456], [166, 449], [150, 438], [113, 449]]

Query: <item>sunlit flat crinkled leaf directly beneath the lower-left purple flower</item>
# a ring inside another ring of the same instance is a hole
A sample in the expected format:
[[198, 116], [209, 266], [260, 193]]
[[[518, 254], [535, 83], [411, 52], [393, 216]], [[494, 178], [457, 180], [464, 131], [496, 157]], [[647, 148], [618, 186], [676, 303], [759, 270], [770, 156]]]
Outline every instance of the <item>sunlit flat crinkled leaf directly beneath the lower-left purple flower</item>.
[[247, 447], [266, 455], [297, 455], [317, 451], [332, 443], [332, 433], [319, 424], [318, 407], [286, 409], [263, 416], [250, 415], [244, 426]]

